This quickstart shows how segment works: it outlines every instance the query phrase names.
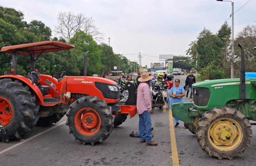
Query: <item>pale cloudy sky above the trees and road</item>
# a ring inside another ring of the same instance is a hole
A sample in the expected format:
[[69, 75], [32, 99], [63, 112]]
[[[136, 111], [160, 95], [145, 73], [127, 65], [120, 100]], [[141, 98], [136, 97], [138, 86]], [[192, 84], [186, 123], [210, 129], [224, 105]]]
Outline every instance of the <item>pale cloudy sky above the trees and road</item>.
[[[234, 11], [248, 1], [233, 0]], [[216, 33], [231, 14], [231, 2], [216, 0], [1, 0], [0, 5], [20, 10], [27, 22], [40, 20], [52, 31], [59, 11], [92, 16], [105, 33], [103, 42], [110, 37], [114, 52], [132, 61], [139, 52], [146, 54], [143, 66], [157, 62], [159, 54], [184, 55], [204, 27]], [[255, 6], [256, 0], [250, 0], [234, 14], [235, 35], [255, 24]]]

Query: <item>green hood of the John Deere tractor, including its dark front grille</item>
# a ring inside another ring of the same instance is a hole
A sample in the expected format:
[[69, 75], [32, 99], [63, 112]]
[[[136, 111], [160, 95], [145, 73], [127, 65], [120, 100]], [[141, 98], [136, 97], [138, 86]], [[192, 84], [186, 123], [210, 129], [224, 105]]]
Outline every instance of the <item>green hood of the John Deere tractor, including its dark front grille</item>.
[[[245, 99], [255, 98], [256, 88], [251, 82], [256, 80], [245, 80]], [[240, 79], [209, 80], [194, 83], [192, 87], [195, 107], [200, 110], [223, 107], [231, 100], [240, 99]]]

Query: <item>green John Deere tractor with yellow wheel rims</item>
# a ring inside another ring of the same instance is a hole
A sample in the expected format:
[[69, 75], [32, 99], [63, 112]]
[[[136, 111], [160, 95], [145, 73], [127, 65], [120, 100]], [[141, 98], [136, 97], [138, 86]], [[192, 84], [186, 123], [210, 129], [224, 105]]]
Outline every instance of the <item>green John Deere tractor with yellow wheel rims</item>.
[[[202, 149], [220, 160], [242, 155], [252, 138], [249, 120], [256, 121], [256, 79], [245, 79], [244, 49], [241, 48], [240, 79], [195, 83], [194, 103], [172, 105], [173, 117], [190, 123]], [[256, 49], [256, 47], [254, 48]]]

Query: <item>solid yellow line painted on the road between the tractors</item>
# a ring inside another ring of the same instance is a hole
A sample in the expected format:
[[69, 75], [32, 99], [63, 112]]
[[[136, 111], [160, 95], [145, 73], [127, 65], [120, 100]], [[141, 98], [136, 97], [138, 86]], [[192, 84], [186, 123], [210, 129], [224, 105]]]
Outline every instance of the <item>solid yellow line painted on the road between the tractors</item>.
[[176, 145], [176, 138], [175, 138], [171, 109], [169, 109], [169, 122], [170, 122], [170, 135], [171, 135], [172, 165], [179, 166], [180, 164], [179, 164], [178, 150]]

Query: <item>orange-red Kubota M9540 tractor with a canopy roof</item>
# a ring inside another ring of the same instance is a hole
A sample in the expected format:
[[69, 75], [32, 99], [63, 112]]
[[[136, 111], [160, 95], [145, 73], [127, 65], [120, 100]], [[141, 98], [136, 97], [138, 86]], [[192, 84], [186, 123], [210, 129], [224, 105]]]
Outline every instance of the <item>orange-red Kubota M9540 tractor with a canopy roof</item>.
[[[87, 76], [62, 76], [65, 71], [51, 75], [35, 69], [35, 61], [43, 53], [74, 48], [73, 45], [46, 41], [6, 46], [3, 53], [12, 54], [11, 71], [0, 76], [0, 123], [4, 125], [3, 140], [21, 139], [41, 126], [58, 122], [65, 114], [69, 133], [75, 140], [94, 145], [105, 140], [118, 126], [135, 116], [136, 86], [127, 83], [128, 99], [120, 100], [114, 81]], [[18, 75], [17, 61], [30, 57], [31, 71]], [[114, 122], [115, 120], [115, 122]]]

